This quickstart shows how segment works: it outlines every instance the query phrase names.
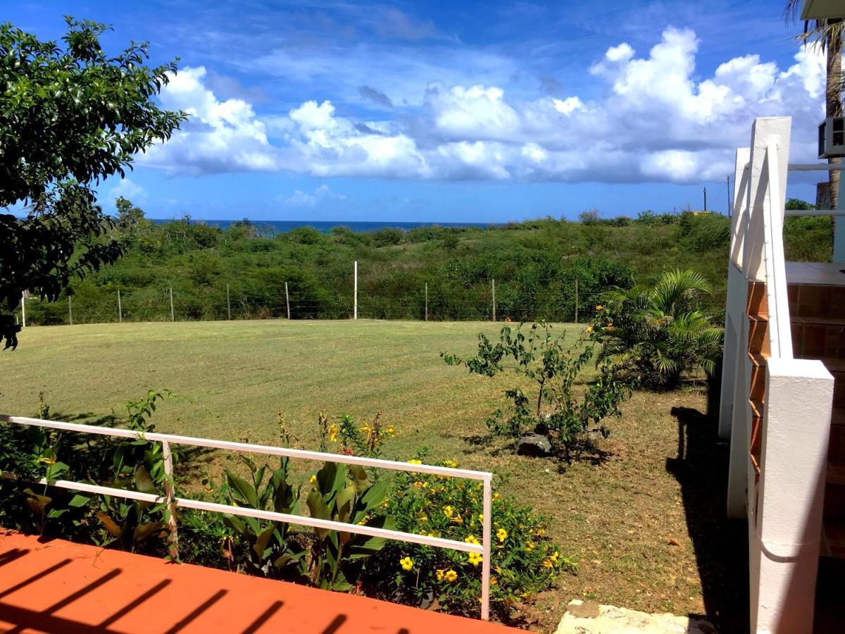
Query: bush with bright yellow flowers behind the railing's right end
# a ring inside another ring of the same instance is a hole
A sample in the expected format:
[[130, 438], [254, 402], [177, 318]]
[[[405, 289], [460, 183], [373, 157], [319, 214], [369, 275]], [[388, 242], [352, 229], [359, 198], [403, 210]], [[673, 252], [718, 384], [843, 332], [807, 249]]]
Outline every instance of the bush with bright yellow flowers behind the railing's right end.
[[[458, 466], [451, 460], [441, 464]], [[481, 483], [401, 473], [385, 511], [395, 516], [397, 530], [481, 544], [482, 497]], [[512, 606], [549, 588], [560, 572], [574, 571], [575, 563], [548, 539], [547, 519], [530, 507], [493, 493], [492, 511], [490, 604], [506, 618]], [[391, 542], [373, 559], [363, 578], [373, 593], [423, 608], [436, 603], [452, 613], [478, 615], [481, 555]]]

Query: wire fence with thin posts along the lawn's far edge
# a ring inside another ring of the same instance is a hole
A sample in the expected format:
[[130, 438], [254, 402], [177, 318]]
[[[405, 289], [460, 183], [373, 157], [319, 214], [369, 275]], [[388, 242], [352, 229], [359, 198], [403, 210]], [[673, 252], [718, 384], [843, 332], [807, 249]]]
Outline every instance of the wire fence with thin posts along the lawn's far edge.
[[[330, 293], [289, 287], [285, 292], [256, 293], [252, 287], [221, 284], [210, 287], [145, 287], [135, 291], [103, 291], [71, 295], [56, 302], [25, 300], [25, 325], [103, 324], [149, 321], [217, 320], [427, 320], [549, 321], [587, 323], [602, 301], [603, 290], [583, 292], [533, 289], [491, 281], [486, 288], [439, 287], [425, 284], [397, 292], [359, 287]], [[357, 310], [356, 310], [357, 308]], [[724, 295], [711, 298], [708, 312], [724, 315]], [[19, 323], [24, 314], [16, 311]]]

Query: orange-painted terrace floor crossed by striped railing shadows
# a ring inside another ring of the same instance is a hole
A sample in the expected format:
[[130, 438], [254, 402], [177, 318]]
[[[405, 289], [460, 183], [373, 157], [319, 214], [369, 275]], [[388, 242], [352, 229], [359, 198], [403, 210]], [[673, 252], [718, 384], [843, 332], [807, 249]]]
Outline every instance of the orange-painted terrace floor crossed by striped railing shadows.
[[0, 631], [506, 634], [517, 630], [0, 530]]

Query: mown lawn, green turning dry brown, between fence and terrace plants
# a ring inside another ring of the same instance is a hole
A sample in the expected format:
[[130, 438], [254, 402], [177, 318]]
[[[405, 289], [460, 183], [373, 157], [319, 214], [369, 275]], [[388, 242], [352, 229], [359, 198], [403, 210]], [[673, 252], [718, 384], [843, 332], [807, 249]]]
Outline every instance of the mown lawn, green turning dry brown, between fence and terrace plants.
[[[575, 340], [576, 325], [561, 325]], [[385, 457], [422, 445], [432, 459], [496, 474], [504, 493], [553, 517], [553, 538], [580, 562], [537, 599], [526, 622], [553, 630], [572, 598], [647, 611], [708, 614], [741, 631], [747, 602], [744, 528], [724, 517], [727, 450], [706, 416], [703, 388], [640, 392], [611, 422], [607, 459], [561, 464], [515, 456], [484, 417], [510, 379], [446, 366], [470, 354], [489, 323], [233, 321], [29, 328], [0, 354], [0, 411], [34, 415], [44, 391], [52, 418], [96, 422], [150, 389], [180, 398], [159, 430], [274, 443], [282, 410], [315, 448], [319, 412], [395, 425]], [[212, 461], [213, 462], [213, 461]], [[215, 467], [209, 464], [209, 468]]]

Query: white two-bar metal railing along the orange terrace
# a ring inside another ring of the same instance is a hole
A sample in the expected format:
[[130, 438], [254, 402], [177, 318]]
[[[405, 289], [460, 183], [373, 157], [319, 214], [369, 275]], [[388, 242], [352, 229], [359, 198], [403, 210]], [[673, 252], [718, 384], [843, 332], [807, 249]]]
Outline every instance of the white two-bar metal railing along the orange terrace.
[[[165, 495], [153, 495], [141, 493], [139, 491], [128, 491], [125, 489], [115, 489], [112, 487], [101, 486], [99, 484], [88, 484], [84, 482], [75, 482], [72, 480], [51, 480], [41, 478], [36, 481], [36, 484], [47, 484], [55, 486], [60, 489], [70, 489], [74, 491], [85, 491], [85, 493], [93, 493], [99, 495], [113, 495], [115, 497], [127, 498], [128, 500], [141, 500], [152, 502], [154, 504], [166, 503], [170, 513], [169, 522], [172, 535], [175, 538], [177, 531], [177, 506], [184, 508], [197, 509], [199, 511], [212, 511], [218, 513], [227, 513], [229, 515], [239, 515], [247, 517], [255, 517], [263, 520], [270, 520], [273, 522], [288, 522], [291, 524], [298, 524], [300, 526], [308, 526], [315, 528], [326, 528], [329, 530], [343, 531], [345, 533], [357, 533], [361, 535], [368, 535], [370, 537], [379, 537], [387, 539], [395, 539], [401, 542], [408, 542], [412, 544], [422, 544], [424, 546], [434, 546], [435, 548], [444, 548], [452, 550], [460, 550], [467, 553], [477, 553], [482, 555], [482, 597], [481, 597], [481, 618], [489, 620], [490, 616], [490, 527], [491, 527], [491, 484], [493, 481], [493, 473], [486, 471], [471, 471], [469, 469], [457, 469], [450, 467], [437, 467], [426, 464], [413, 464], [410, 462], [395, 462], [392, 460], [380, 460], [376, 458], [364, 458], [361, 456], [342, 456], [334, 453], [323, 453], [321, 451], [305, 451], [300, 449], [289, 449], [286, 447], [272, 447], [268, 445], [252, 445], [243, 442], [230, 442], [227, 440], [209, 440], [205, 438], [193, 438], [191, 436], [180, 436], [171, 434], [158, 433], [142, 433], [131, 429], [111, 429], [107, 427], [98, 427], [95, 425], [85, 425], [78, 423], [63, 423], [52, 420], [42, 420], [41, 418], [26, 418], [22, 416], [7, 416], [0, 414], [0, 421], [9, 424], [30, 425], [33, 427], [44, 427], [48, 429], [61, 429], [63, 431], [73, 431], [82, 434], [95, 434], [112, 436], [115, 438], [128, 438], [132, 440], [148, 440], [150, 442], [160, 442], [162, 448], [162, 455], [164, 457], [164, 468], [167, 475], [165, 484]], [[177, 497], [169, 484], [173, 478], [173, 461], [171, 445], [191, 445], [194, 447], [208, 447], [210, 449], [223, 449], [227, 451], [239, 451], [243, 453], [264, 454], [266, 456], [286, 456], [289, 458], [300, 458], [303, 460], [316, 460], [322, 462], [338, 462], [341, 464], [355, 464], [361, 467], [377, 467], [381, 469], [389, 469], [391, 471], [403, 471], [411, 473], [427, 473], [431, 475], [441, 475], [451, 478], [466, 478], [471, 480], [479, 480], [483, 483], [483, 512], [482, 520], [482, 543], [470, 544], [468, 542], [459, 542], [455, 539], [444, 539], [437, 537], [429, 537], [427, 535], [417, 535], [415, 533], [404, 533], [402, 531], [393, 531], [385, 528], [360, 526], [357, 524], [347, 524], [346, 522], [334, 522], [332, 520], [322, 520], [317, 517], [291, 515], [289, 513], [277, 513], [275, 511], [262, 511], [259, 509], [248, 509], [243, 506], [229, 506], [226, 504], [216, 504], [214, 502], [206, 502], [204, 500], [190, 500], [188, 498]], [[5, 474], [4, 474], [5, 475]], [[14, 474], [11, 474], [14, 478]]]

